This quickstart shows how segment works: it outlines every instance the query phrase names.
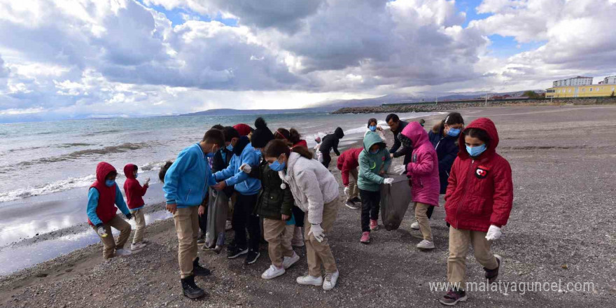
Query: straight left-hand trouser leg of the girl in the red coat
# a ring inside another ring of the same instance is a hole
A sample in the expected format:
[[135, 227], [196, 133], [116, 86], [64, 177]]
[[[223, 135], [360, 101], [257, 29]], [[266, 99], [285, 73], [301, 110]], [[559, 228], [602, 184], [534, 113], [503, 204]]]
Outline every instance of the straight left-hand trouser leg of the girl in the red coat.
[[470, 230], [449, 227], [449, 258], [447, 258], [447, 281], [465, 289], [466, 253], [470, 244]]

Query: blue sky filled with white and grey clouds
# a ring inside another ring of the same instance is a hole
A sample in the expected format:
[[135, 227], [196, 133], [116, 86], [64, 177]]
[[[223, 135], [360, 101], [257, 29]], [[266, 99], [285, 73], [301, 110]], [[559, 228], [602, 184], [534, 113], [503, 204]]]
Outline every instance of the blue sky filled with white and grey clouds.
[[0, 0], [0, 122], [616, 75], [616, 0]]

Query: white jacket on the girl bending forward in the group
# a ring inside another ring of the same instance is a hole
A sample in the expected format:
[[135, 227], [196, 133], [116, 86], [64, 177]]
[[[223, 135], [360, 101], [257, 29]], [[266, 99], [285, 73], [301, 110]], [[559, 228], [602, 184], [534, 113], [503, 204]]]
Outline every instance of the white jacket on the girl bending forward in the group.
[[308, 212], [309, 223], [323, 222], [323, 205], [338, 197], [338, 182], [323, 164], [291, 152], [283, 179], [293, 193], [295, 206]]

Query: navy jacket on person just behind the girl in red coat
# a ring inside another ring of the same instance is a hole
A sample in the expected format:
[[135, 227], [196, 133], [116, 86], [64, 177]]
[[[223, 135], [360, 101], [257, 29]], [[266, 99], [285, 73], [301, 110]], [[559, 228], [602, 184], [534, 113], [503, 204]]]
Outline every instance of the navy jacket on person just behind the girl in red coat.
[[440, 124], [437, 124], [428, 132], [428, 139], [430, 139], [430, 142], [434, 146], [438, 157], [439, 193], [441, 194], [447, 192], [449, 172], [451, 172], [451, 166], [454, 165], [454, 160], [456, 160], [458, 156], [458, 144], [456, 142], [458, 138], [449, 135], [443, 136], [443, 131], [444, 129]]

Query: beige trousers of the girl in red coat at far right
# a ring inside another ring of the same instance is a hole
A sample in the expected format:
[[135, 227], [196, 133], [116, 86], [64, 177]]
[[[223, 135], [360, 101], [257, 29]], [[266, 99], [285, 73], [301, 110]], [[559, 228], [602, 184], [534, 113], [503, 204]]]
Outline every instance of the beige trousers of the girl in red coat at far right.
[[[425, 213], [425, 211], [424, 211]], [[447, 281], [459, 283], [461, 289], [466, 283], [466, 253], [472, 245], [475, 259], [487, 269], [496, 269], [498, 262], [490, 251], [486, 232], [461, 230], [449, 227], [449, 258], [447, 258]]]

